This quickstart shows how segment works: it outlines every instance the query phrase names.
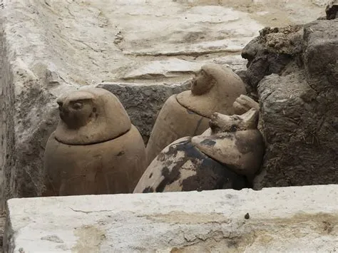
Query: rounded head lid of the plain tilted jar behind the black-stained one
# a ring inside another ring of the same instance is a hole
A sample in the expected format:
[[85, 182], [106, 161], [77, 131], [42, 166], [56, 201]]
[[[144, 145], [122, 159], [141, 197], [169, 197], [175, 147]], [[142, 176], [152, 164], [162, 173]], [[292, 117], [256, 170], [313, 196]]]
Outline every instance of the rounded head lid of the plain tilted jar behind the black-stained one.
[[190, 91], [178, 94], [177, 100], [183, 107], [210, 118], [215, 111], [233, 114], [232, 104], [245, 93], [245, 84], [230, 68], [208, 63], [195, 74]]

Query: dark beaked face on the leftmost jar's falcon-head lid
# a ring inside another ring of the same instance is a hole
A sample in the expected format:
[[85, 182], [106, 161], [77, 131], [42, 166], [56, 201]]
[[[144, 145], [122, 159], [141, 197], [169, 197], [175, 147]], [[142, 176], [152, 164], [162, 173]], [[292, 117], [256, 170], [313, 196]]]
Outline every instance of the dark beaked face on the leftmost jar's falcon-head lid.
[[68, 128], [81, 128], [88, 124], [93, 116], [96, 117], [96, 107], [91, 98], [83, 99], [60, 99], [57, 101], [60, 118]]

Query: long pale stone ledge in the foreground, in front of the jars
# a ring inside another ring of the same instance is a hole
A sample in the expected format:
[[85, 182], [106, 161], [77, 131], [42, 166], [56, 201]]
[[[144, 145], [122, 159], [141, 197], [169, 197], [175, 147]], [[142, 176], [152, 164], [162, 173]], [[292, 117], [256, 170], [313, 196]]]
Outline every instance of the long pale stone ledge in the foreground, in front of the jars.
[[22, 198], [7, 208], [5, 252], [338, 250], [338, 185]]

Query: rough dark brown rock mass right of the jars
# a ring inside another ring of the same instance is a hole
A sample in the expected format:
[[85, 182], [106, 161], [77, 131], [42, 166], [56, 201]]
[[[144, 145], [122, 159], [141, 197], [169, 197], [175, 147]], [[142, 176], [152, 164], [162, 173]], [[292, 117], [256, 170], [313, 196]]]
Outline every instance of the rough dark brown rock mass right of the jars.
[[[281, 33], [289, 38], [282, 51], [269, 46], [274, 36], [261, 33], [245, 49], [247, 78], [253, 86], [259, 82], [267, 144], [255, 188], [338, 183], [338, 20]], [[275, 62], [278, 71], [262, 68], [285, 52], [287, 61]]]

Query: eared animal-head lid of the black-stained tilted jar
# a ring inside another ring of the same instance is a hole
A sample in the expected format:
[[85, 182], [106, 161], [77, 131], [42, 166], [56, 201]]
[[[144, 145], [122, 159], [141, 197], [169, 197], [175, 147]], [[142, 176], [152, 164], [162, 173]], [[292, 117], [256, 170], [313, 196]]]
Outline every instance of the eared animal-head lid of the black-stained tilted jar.
[[237, 174], [254, 175], [262, 165], [265, 150], [262, 134], [257, 130], [258, 118], [255, 108], [242, 115], [214, 113], [210, 128], [191, 138], [191, 143]]

